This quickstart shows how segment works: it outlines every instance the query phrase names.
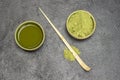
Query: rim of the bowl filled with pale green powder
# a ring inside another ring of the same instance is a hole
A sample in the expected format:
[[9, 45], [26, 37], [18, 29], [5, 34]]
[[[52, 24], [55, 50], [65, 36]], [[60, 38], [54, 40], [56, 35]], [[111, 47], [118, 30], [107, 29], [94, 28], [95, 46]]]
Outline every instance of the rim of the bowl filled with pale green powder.
[[[68, 22], [69, 22], [70, 17], [71, 17], [74, 13], [77, 13], [77, 12], [80, 12], [80, 11], [85, 12], [85, 13], [87, 13], [88, 15], [90, 15], [91, 18], [93, 19], [93, 24], [94, 24], [94, 26], [93, 26], [94, 28], [93, 28], [92, 32], [91, 32], [89, 35], [85, 36], [85, 37], [76, 37], [76, 36], [73, 36], [73, 35], [71, 34], [71, 32], [68, 30]], [[92, 34], [95, 32], [95, 30], [96, 30], [96, 21], [95, 21], [95, 18], [93, 17], [93, 15], [92, 15], [90, 12], [88, 12], [88, 11], [86, 11], [86, 10], [76, 10], [76, 11], [70, 13], [70, 15], [68, 16], [67, 21], [66, 21], [66, 28], [67, 28], [68, 33], [69, 33], [72, 37], [74, 37], [75, 39], [78, 39], [78, 40], [83, 40], [83, 39], [89, 38], [89, 37], [92, 36]]]

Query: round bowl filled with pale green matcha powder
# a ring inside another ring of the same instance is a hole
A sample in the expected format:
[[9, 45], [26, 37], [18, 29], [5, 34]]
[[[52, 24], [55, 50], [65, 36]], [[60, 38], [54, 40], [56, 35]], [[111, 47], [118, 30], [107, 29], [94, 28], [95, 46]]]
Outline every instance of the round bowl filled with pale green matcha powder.
[[96, 22], [92, 14], [88, 11], [77, 10], [68, 16], [66, 28], [72, 37], [86, 39], [94, 33]]

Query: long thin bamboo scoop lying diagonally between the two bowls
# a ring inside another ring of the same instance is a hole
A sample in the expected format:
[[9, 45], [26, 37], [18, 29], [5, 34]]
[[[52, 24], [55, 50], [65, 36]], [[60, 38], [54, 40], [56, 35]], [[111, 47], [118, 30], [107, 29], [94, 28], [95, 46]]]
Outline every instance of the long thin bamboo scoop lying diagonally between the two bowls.
[[41, 8], [39, 8], [41, 13], [44, 15], [44, 17], [48, 20], [48, 22], [51, 24], [52, 28], [55, 30], [55, 32], [58, 34], [58, 36], [61, 38], [61, 40], [64, 42], [64, 44], [68, 47], [68, 49], [73, 53], [73, 56], [78, 61], [78, 63], [81, 65], [81, 67], [85, 71], [90, 71], [91, 68], [87, 66], [83, 60], [77, 55], [77, 53], [71, 48], [70, 44], [65, 40], [65, 38], [62, 36], [62, 34], [57, 30], [57, 28], [53, 25], [53, 23], [50, 21], [50, 19], [47, 17], [47, 15], [43, 12]]

